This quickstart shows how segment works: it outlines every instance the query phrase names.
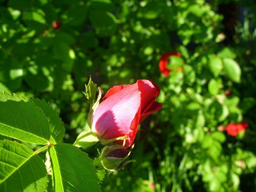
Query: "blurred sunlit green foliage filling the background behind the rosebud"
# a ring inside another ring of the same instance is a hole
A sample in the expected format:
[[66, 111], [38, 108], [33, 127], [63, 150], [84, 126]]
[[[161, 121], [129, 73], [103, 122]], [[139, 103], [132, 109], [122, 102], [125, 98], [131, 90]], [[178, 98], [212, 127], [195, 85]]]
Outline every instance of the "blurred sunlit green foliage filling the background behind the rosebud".
[[[102, 191], [255, 191], [255, 12], [253, 0], [0, 0], [0, 90], [49, 101], [73, 143], [88, 129], [90, 75], [104, 91], [152, 79], [163, 108]], [[170, 51], [183, 71], [165, 77]], [[242, 121], [245, 133], [224, 131]]]

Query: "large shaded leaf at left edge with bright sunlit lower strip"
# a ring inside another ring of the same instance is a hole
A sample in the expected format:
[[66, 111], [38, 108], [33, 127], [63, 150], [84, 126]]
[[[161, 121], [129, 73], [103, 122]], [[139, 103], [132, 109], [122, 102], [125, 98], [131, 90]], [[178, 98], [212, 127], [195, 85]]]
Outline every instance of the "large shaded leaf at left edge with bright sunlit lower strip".
[[0, 134], [36, 144], [49, 142], [49, 122], [33, 102], [0, 93], [0, 109]]

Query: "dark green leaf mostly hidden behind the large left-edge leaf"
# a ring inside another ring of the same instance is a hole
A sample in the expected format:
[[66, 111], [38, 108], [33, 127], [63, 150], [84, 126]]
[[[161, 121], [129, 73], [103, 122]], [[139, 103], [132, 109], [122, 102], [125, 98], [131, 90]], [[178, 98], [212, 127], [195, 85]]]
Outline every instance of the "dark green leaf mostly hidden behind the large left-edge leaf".
[[64, 137], [65, 129], [59, 116], [53, 111], [51, 105], [45, 100], [32, 99], [32, 101], [44, 112], [48, 118], [51, 138], [50, 141], [54, 144], [59, 143]]

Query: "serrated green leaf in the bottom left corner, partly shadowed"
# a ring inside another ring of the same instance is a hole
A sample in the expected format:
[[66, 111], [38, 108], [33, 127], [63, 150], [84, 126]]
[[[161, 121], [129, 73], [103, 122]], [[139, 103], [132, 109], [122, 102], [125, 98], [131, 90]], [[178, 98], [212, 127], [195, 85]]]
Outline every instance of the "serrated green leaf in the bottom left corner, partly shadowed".
[[8, 140], [0, 141], [0, 154], [0, 191], [46, 191], [46, 168], [38, 155]]

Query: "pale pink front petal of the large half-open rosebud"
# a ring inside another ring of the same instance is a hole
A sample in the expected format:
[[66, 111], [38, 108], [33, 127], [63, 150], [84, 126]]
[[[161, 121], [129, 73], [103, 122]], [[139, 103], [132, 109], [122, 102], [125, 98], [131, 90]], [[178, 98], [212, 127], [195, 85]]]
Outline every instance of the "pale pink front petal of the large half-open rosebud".
[[[137, 83], [112, 94], [102, 101], [94, 112], [92, 131], [104, 139], [117, 138], [130, 133], [136, 135], [140, 103], [141, 92]], [[130, 145], [130, 138], [127, 143]]]

